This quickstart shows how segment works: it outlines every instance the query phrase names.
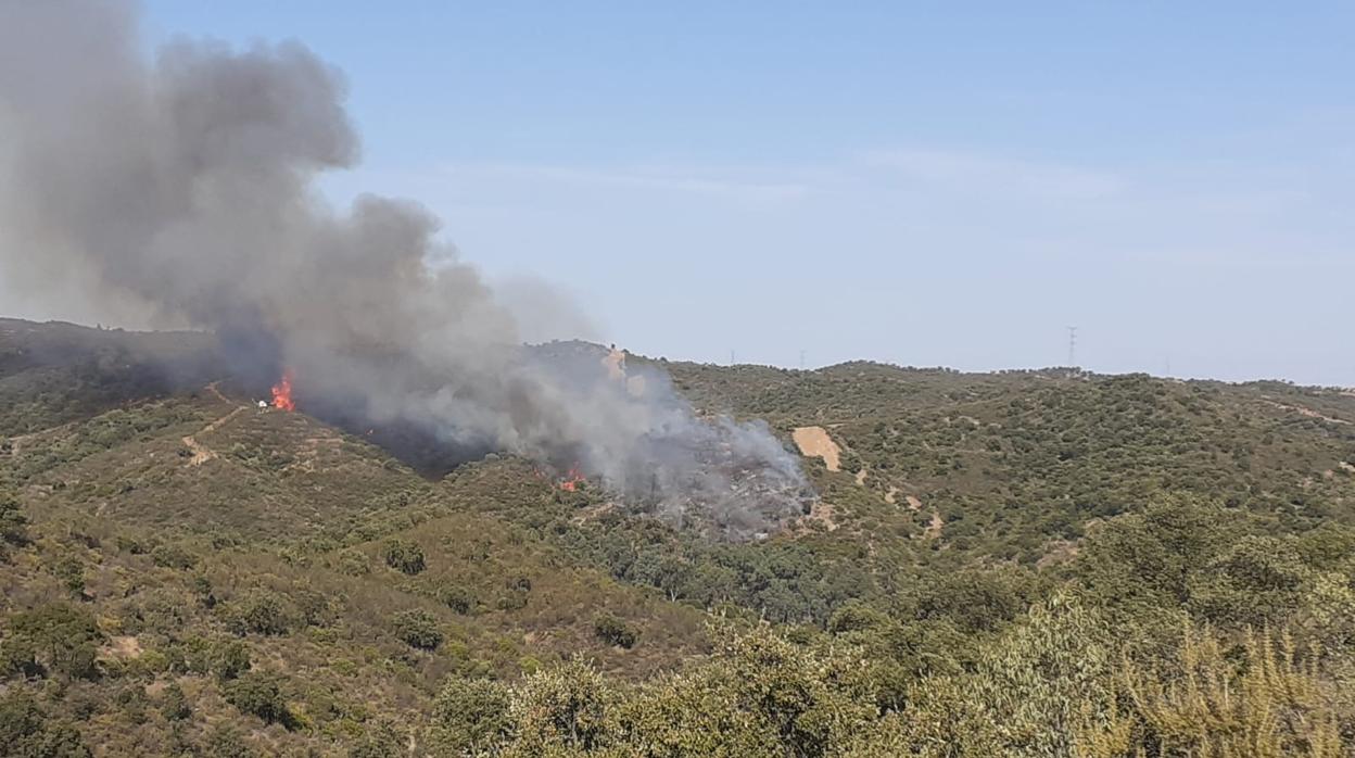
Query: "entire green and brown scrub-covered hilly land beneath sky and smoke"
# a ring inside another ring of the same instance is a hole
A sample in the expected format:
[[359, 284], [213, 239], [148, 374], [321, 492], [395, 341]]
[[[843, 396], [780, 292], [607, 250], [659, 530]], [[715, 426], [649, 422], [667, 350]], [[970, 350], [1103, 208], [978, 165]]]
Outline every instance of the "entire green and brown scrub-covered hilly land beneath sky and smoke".
[[657, 363], [812, 513], [420, 475], [207, 335], [0, 320], [0, 753], [1351, 754], [1350, 392]]

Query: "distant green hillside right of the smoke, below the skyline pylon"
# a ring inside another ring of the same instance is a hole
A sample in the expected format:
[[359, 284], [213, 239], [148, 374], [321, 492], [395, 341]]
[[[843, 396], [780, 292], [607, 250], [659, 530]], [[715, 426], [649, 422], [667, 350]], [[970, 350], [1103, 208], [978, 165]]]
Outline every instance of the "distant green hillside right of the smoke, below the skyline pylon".
[[911, 495], [923, 503], [915, 533], [930, 523], [916, 513], [936, 513], [944, 546], [985, 557], [1035, 563], [1050, 541], [1167, 495], [1293, 529], [1355, 515], [1355, 393], [1341, 389], [873, 363], [669, 369], [713, 411], [827, 428], [844, 475], [822, 487], [851, 499], [864, 529], [905, 529], [885, 506]]

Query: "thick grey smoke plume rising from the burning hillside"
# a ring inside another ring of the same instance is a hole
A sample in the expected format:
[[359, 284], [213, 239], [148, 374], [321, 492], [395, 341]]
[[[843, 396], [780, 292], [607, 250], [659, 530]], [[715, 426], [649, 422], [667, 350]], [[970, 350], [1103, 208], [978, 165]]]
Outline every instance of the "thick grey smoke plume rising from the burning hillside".
[[0, 275], [238, 338], [255, 367], [293, 367], [302, 401], [575, 458], [678, 519], [699, 508], [747, 534], [798, 511], [804, 477], [766, 427], [698, 419], [654, 370], [637, 396], [596, 355], [522, 350], [541, 332], [515, 313], [531, 309], [496, 297], [417, 203], [328, 207], [317, 175], [359, 153], [344, 98], [299, 43], [184, 41], [148, 62], [127, 3], [0, 3]]

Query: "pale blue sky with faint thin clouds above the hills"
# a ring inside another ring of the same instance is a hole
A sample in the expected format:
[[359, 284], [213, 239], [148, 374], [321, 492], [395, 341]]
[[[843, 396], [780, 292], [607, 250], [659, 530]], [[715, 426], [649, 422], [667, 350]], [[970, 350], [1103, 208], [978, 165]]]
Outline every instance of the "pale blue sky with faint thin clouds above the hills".
[[[833, 7], [833, 5], [846, 5]], [[1355, 385], [1355, 4], [154, 0], [298, 39], [493, 281], [698, 361]]]

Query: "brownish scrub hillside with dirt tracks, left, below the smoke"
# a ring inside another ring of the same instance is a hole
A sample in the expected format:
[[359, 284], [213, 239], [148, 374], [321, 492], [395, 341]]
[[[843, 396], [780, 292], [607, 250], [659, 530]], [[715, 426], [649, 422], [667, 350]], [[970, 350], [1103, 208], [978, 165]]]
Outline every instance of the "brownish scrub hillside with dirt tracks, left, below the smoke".
[[[87, 742], [108, 754], [171, 750], [168, 732], [127, 720], [117, 698], [129, 682], [173, 679], [195, 711], [221, 708], [220, 650], [283, 678], [310, 732], [267, 740], [283, 750], [427, 709], [449, 673], [509, 675], [585, 652], [634, 677], [707, 644], [695, 610], [481, 515], [481, 496], [558, 496], [522, 464], [472, 487], [430, 481], [363, 439], [215, 382], [172, 392], [182, 382], [160, 373], [159, 355], [136, 351], [142, 335], [11, 321], [0, 336], [11, 410], [0, 475], [30, 522], [4, 551], [0, 607], [9, 629], [43, 613], [98, 624], [96, 660], [80, 663], [89, 681], [77, 675], [61, 700], [88, 704]], [[423, 559], [392, 567], [405, 560], [392, 549]], [[427, 614], [444, 637], [436, 650], [401, 640], [402, 613]], [[596, 639], [608, 614], [645, 644]]]

